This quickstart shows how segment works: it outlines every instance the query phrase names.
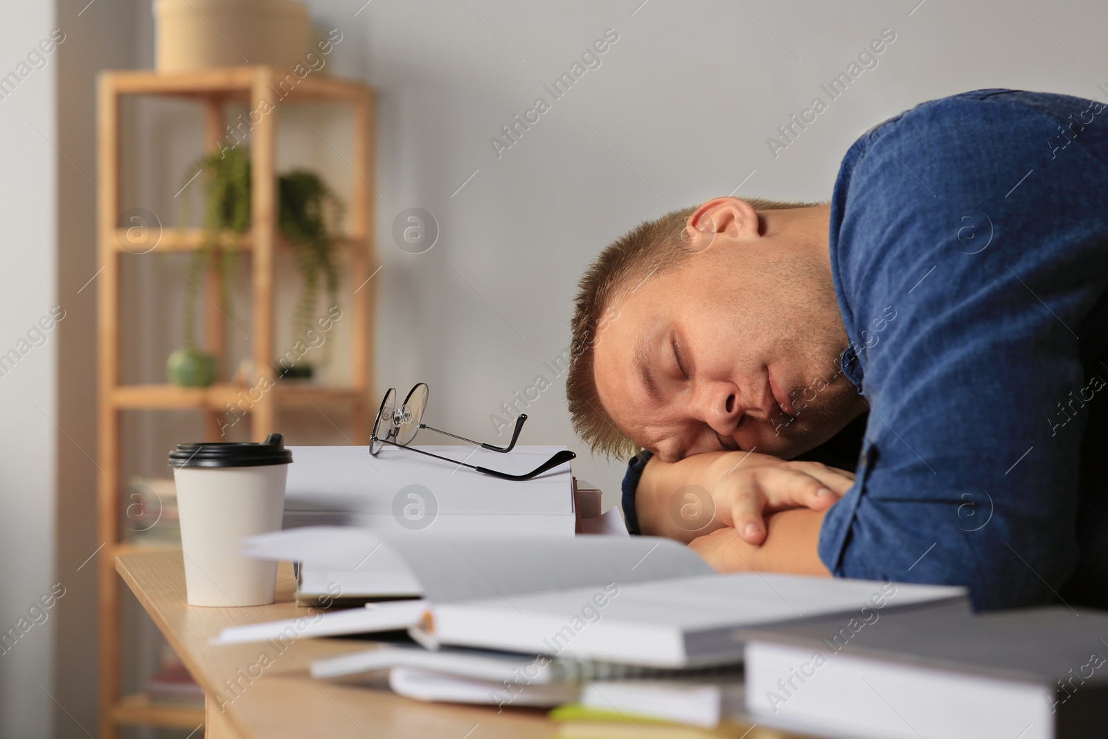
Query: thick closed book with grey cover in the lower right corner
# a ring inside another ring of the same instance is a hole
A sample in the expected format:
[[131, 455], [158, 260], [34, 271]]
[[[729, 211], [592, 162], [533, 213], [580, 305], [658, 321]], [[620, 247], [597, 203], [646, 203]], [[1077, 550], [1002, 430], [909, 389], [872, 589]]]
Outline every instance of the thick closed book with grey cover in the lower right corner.
[[902, 614], [742, 632], [755, 720], [851, 739], [1092, 739], [1108, 716], [1108, 613]]

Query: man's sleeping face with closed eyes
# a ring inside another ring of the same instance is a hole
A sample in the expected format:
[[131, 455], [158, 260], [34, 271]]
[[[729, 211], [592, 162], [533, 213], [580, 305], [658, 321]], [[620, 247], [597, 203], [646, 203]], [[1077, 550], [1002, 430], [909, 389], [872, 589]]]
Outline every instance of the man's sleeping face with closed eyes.
[[595, 345], [601, 402], [663, 461], [793, 456], [864, 408], [840, 369], [848, 339], [825, 258], [810, 247], [716, 234], [606, 316]]

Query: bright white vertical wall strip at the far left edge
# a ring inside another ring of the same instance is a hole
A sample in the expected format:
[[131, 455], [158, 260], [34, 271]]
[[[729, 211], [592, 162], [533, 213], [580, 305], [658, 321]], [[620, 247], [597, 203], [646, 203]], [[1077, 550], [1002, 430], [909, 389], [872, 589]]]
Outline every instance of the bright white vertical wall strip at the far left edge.
[[[7, 3], [0, 74], [17, 70], [55, 25], [50, 2]], [[55, 55], [0, 100], [0, 353], [27, 350], [0, 377], [0, 636], [54, 579], [58, 331], [28, 330], [58, 305]], [[32, 335], [38, 339], [38, 335]], [[20, 340], [24, 343], [20, 345]], [[41, 617], [34, 614], [41, 622]], [[32, 624], [23, 622], [23, 627]], [[51, 736], [54, 619], [31, 625], [0, 655], [0, 737]]]

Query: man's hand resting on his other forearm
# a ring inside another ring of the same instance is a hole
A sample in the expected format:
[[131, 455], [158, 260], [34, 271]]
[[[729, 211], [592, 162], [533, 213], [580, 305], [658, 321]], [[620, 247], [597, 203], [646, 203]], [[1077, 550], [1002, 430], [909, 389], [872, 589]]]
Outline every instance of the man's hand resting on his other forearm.
[[[652, 459], [635, 495], [644, 533], [690, 542], [717, 528], [759, 545], [766, 514], [825, 511], [854, 484], [851, 472], [768, 454], [710, 452], [679, 462]], [[822, 516], [821, 516], [822, 520]]]

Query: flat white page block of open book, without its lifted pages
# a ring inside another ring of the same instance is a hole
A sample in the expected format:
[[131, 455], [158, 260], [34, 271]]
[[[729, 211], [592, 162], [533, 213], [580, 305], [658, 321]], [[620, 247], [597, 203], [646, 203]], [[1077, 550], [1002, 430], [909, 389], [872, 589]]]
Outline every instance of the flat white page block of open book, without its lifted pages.
[[[608, 581], [465, 602], [432, 599], [432, 636], [441, 644], [556, 654], [632, 665], [688, 667], [739, 661], [739, 627], [860, 613], [886, 584], [856, 579], [740, 573]], [[934, 607], [968, 613], [966, 589], [895, 586], [884, 608]], [[869, 606], [872, 610], [873, 606]]]

